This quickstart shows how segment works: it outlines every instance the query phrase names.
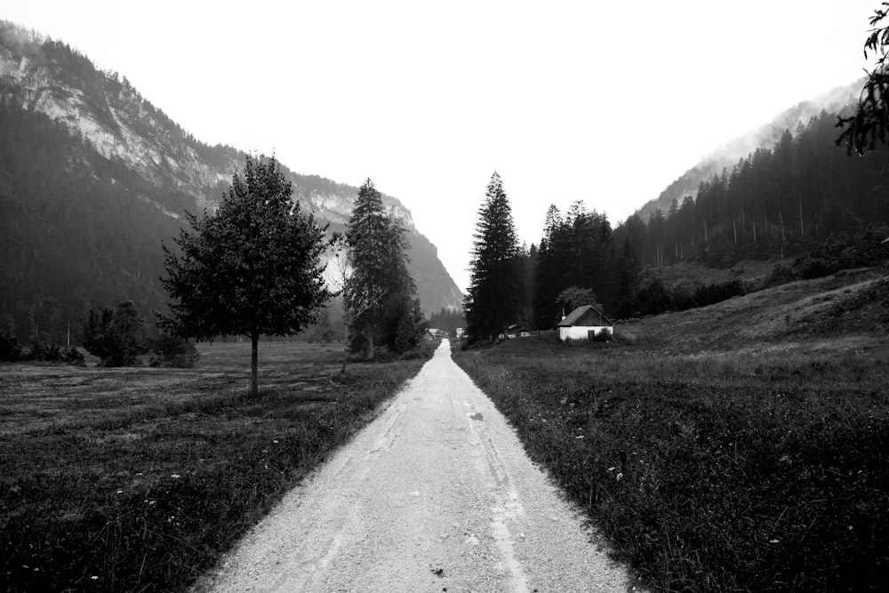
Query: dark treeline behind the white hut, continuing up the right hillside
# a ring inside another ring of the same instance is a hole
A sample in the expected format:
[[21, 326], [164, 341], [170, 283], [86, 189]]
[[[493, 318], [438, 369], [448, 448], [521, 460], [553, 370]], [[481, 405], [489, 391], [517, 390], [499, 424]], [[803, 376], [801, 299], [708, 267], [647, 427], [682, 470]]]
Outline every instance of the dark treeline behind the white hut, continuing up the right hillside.
[[[731, 171], [702, 182], [696, 198], [669, 212], [638, 215], [612, 228], [604, 213], [578, 201], [552, 205], [540, 244], [520, 250], [525, 289], [517, 320], [550, 328], [563, 314], [558, 295], [578, 286], [595, 292], [608, 315], [637, 317], [701, 307], [769, 283], [813, 277], [837, 266], [886, 257], [889, 149], [866, 156], [837, 148], [836, 114], [821, 112], [773, 148], [759, 148]], [[682, 261], [732, 268], [741, 260], [784, 265], [759, 286], [668, 285], [658, 273]]]

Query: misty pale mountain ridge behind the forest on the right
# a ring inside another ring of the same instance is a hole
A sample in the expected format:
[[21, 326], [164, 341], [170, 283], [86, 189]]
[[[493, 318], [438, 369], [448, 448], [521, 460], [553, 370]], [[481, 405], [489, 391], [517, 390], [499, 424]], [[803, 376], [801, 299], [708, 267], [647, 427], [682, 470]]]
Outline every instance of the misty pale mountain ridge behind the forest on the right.
[[812, 117], [821, 114], [821, 111], [839, 112], [858, 98], [863, 84], [862, 78], [852, 84], [837, 86], [813, 100], [802, 101], [782, 111], [771, 122], [760, 126], [757, 130], [725, 142], [670, 183], [657, 199], [650, 200], [636, 213], [646, 221], [656, 210], [660, 209], [666, 214], [673, 200], [681, 205], [685, 196], [697, 196], [701, 181], [712, 180], [715, 175], [720, 175], [723, 169], [731, 171], [741, 158], [753, 153], [757, 148], [772, 148], [786, 130], [794, 132], [799, 124], [807, 124]]

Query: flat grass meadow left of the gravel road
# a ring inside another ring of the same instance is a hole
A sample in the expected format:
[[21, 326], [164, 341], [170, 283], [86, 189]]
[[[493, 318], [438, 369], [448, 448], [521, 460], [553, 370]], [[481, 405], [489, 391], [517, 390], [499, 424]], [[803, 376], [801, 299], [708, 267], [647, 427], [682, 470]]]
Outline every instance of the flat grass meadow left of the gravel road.
[[[0, 589], [181, 590], [425, 359], [199, 345], [194, 369], [0, 365]], [[431, 354], [431, 350], [428, 352]]]

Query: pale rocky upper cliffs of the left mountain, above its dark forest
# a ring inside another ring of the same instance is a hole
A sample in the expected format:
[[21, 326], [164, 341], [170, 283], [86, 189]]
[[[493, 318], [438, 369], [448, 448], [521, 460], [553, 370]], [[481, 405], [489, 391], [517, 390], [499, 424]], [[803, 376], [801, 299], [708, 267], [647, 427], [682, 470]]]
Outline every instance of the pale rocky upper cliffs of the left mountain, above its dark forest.
[[[63, 124], [100, 157], [96, 161], [82, 153], [70, 156], [71, 172], [89, 169], [93, 178], [121, 188], [121, 200], [136, 198], [173, 220], [181, 220], [184, 210], [212, 211], [232, 172], [244, 162], [240, 150], [196, 140], [126, 78], [100, 72], [67, 45], [2, 21], [0, 105]], [[113, 166], [96, 165], [103, 161]], [[292, 180], [294, 198], [317, 219], [331, 222], [332, 228], [348, 221], [356, 188], [285, 167], [284, 172]], [[412, 274], [424, 311], [459, 306], [461, 292], [437, 259], [435, 247], [414, 227], [411, 212], [392, 196], [384, 196], [384, 204], [409, 230]], [[158, 253], [162, 239], [170, 237], [157, 237]]]

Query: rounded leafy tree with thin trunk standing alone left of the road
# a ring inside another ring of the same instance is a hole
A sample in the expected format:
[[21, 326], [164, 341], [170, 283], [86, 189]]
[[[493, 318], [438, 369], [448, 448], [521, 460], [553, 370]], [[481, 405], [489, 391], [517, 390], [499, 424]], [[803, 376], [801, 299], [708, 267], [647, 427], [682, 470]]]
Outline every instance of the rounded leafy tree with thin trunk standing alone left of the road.
[[192, 230], [164, 245], [164, 288], [174, 335], [212, 340], [250, 338], [251, 393], [256, 395], [260, 336], [293, 335], [315, 322], [331, 298], [324, 284], [324, 228], [291, 199], [275, 157], [247, 156], [215, 214], [187, 213]]

